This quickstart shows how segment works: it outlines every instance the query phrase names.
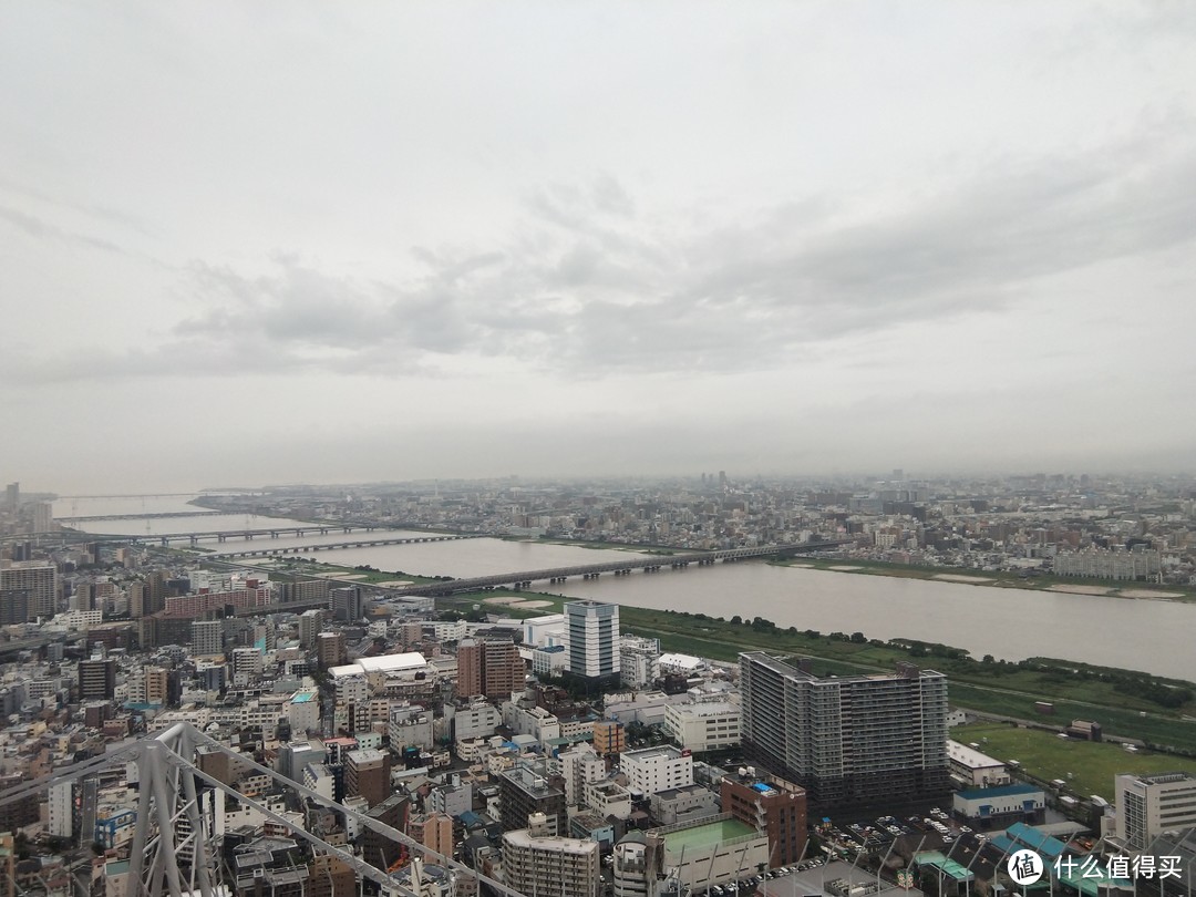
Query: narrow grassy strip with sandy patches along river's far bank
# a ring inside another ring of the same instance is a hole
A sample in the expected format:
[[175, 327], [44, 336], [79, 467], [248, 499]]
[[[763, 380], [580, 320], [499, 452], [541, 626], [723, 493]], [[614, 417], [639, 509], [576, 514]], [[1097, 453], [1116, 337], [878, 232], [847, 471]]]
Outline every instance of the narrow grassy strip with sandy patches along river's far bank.
[[[807, 567], [834, 573], [856, 573], [868, 576], [895, 576], [897, 579], [929, 579], [936, 582], [954, 582], [957, 585], [988, 586], [995, 588], [1026, 588], [1030, 591], [1051, 592], [1066, 591], [1060, 586], [1084, 586], [1107, 590], [1106, 596], [1128, 600], [1172, 600], [1196, 602], [1196, 590], [1183, 586], [1160, 586], [1155, 582], [1124, 579], [1096, 579], [1092, 576], [1056, 576], [1039, 574], [1021, 576], [1006, 570], [977, 570], [962, 567], [928, 567], [909, 563], [889, 563], [886, 561], [859, 561], [854, 557], [786, 557], [769, 561], [780, 567]], [[1167, 598], [1140, 598], [1134, 592], [1165, 592]]]

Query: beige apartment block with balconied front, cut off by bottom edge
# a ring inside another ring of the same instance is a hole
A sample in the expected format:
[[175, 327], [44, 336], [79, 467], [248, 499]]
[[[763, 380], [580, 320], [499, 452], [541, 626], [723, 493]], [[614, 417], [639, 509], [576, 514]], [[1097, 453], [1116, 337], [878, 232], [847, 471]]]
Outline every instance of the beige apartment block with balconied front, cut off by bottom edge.
[[529, 895], [598, 897], [602, 874], [598, 842], [556, 837], [543, 814], [533, 814], [527, 828], [502, 836], [504, 884]]

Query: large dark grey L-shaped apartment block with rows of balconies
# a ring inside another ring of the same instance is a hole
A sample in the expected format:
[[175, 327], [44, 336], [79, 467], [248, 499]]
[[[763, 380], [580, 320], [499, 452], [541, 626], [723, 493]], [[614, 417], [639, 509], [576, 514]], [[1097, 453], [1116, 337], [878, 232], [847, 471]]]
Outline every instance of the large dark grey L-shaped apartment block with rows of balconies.
[[896, 675], [818, 678], [750, 652], [739, 675], [744, 752], [820, 810], [946, 795], [942, 673], [903, 664]]

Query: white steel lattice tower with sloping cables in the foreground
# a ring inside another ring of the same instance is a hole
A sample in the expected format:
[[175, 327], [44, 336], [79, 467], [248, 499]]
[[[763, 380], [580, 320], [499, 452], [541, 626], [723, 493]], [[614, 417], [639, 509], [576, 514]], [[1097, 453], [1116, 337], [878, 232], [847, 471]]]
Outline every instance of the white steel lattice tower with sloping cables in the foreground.
[[330, 800], [282, 774], [255, 763], [243, 753], [209, 738], [188, 722], [177, 724], [154, 737], [93, 757], [57, 771], [55, 775], [31, 782], [22, 782], [0, 792], [0, 806], [43, 794], [53, 786], [81, 782], [114, 767], [134, 764], [138, 775], [136, 828], [129, 852], [129, 897], [227, 897], [231, 892], [221, 884], [215, 835], [215, 813], [219, 801], [216, 792], [232, 795], [243, 806], [249, 806], [263, 817], [285, 826], [298, 840], [305, 841], [316, 855], [336, 856], [347, 864], [358, 879], [376, 881], [389, 889], [386, 893], [416, 897], [386, 872], [365, 862], [349, 850], [328, 843], [300, 825], [275, 812], [263, 803], [246, 797], [234, 787], [224, 783], [196, 765], [197, 750], [222, 752], [242, 768], [268, 776], [271, 781], [292, 789], [300, 798], [343, 813], [362, 829], [390, 838], [426, 862], [466, 874], [488, 885], [504, 897], [523, 897], [501, 881], [488, 878], [463, 866], [452, 858], [438, 854], [367, 814], [350, 810]]

